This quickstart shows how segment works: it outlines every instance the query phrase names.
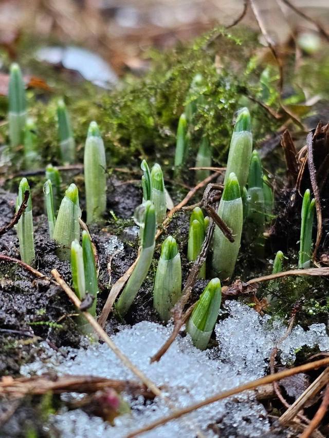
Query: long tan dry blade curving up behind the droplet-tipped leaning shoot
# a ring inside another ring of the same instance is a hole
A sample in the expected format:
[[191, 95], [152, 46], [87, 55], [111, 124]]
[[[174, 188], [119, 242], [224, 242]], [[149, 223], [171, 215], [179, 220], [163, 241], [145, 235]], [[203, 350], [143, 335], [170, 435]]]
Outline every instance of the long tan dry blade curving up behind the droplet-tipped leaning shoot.
[[[181, 202], [179, 202], [179, 204], [175, 205], [174, 208], [172, 208], [168, 212], [166, 219], [162, 223], [161, 229], [158, 230], [156, 235], [155, 235], [156, 239], [161, 236], [163, 231], [165, 231], [166, 226], [169, 224], [169, 222], [170, 222], [171, 218], [174, 216], [174, 214], [177, 213], [179, 210], [181, 210], [181, 208], [184, 207], [190, 201], [191, 198], [193, 198], [193, 196], [196, 194], [196, 192], [200, 188], [202, 188], [205, 185], [207, 185], [208, 183], [210, 183], [213, 179], [215, 179], [218, 176], [218, 174], [219, 174], [219, 172], [215, 172], [214, 174], [205, 178], [203, 181], [199, 182], [195, 187], [193, 187], [189, 191], [189, 193], [186, 195], [186, 197]], [[119, 293], [123, 289], [125, 283], [129, 280], [129, 277], [131, 276], [131, 274], [134, 270], [134, 266], [137, 263], [138, 258], [139, 258], [139, 255], [137, 256], [134, 263], [122, 275], [122, 277], [120, 277], [119, 280], [112, 286], [112, 289], [109, 292], [109, 295], [106, 299], [105, 306], [104, 306], [104, 308], [101, 312], [101, 315], [99, 317], [99, 323], [102, 327], [104, 327], [104, 325], [105, 325], [106, 319], [109, 315], [109, 312], [111, 312], [111, 309], [112, 309], [112, 306], [114, 304], [116, 297], [119, 295]]]

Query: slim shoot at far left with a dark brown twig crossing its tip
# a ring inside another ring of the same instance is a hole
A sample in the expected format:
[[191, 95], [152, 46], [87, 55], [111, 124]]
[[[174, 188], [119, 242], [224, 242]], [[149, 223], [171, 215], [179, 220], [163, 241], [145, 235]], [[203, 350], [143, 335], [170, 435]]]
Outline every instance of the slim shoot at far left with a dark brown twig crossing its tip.
[[29, 192], [29, 199], [27, 201], [27, 207], [16, 225], [16, 230], [20, 242], [21, 260], [31, 265], [35, 259], [32, 199], [27, 179], [22, 178], [19, 186], [19, 194], [16, 198], [16, 212], [19, 210], [23, 202], [25, 192]]

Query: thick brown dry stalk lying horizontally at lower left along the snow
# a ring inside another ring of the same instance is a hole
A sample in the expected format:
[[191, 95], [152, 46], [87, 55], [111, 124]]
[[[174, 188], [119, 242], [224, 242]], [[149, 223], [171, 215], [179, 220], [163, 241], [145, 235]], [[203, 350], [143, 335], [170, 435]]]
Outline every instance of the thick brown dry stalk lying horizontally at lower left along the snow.
[[0, 381], [0, 395], [23, 397], [26, 394], [42, 395], [49, 391], [61, 394], [63, 392], [94, 393], [113, 388], [118, 392], [126, 391], [149, 397], [144, 385], [130, 380], [107, 379], [95, 376], [63, 375], [49, 376], [47, 374], [33, 377], [3, 377]]

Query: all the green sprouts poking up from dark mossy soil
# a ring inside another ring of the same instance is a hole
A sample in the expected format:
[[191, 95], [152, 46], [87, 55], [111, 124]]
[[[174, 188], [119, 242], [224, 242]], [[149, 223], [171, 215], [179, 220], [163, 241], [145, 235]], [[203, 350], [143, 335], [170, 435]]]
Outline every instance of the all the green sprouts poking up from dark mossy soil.
[[[187, 96], [184, 113], [177, 127], [174, 168], [180, 172], [189, 156], [193, 136], [193, 115], [199, 104], [205, 103], [204, 80], [201, 75], [194, 78]], [[73, 163], [76, 144], [70, 118], [63, 100], [58, 101], [57, 121], [59, 150], [63, 163]], [[20, 67], [13, 64], [10, 69], [9, 84], [9, 139], [11, 153], [19, 145], [24, 145], [24, 162], [29, 169], [39, 165], [38, 131], [33, 120], [27, 118], [24, 82]], [[268, 178], [263, 173], [261, 158], [253, 150], [251, 117], [248, 108], [237, 111], [231, 136], [224, 188], [217, 208], [217, 214], [229, 228], [233, 241], [219, 227], [215, 227], [212, 249], [207, 261], [199, 271], [199, 279], [209, 279], [199, 296], [187, 322], [186, 330], [193, 344], [206, 349], [218, 317], [221, 305], [221, 283], [228, 282], [234, 275], [243, 239], [253, 245], [260, 254], [264, 249], [266, 223], [273, 214], [273, 191]], [[196, 155], [196, 178], [198, 181], [209, 176], [212, 151], [207, 132], [200, 137]], [[138, 291], [148, 275], [156, 246], [157, 227], [161, 227], [167, 213], [167, 191], [162, 168], [158, 163], [149, 168], [147, 161], [141, 162], [142, 203], [136, 208], [134, 219], [139, 226], [140, 252], [133, 272], [116, 302], [116, 313], [121, 318], [129, 311]], [[100, 223], [106, 213], [106, 159], [103, 140], [96, 122], [88, 128], [84, 146], [84, 184], [87, 224]], [[71, 183], [61, 199], [62, 180], [59, 170], [49, 164], [45, 169], [43, 187], [45, 210], [48, 219], [49, 237], [57, 243], [57, 255], [71, 263], [72, 283], [80, 300], [90, 297], [88, 311], [96, 317], [98, 279], [95, 255], [90, 235], [82, 232], [81, 209], [78, 187]], [[19, 186], [16, 209], [18, 210], [28, 192], [28, 202], [16, 225], [19, 237], [21, 259], [25, 263], [35, 261], [33, 239], [32, 198], [29, 183], [23, 178]], [[315, 201], [307, 190], [303, 198], [301, 213], [301, 237], [298, 266], [308, 268], [312, 251], [312, 229]], [[187, 258], [194, 262], [202, 250], [210, 219], [204, 216], [201, 207], [195, 207], [190, 216]], [[81, 243], [80, 243], [81, 242]], [[282, 270], [283, 253], [279, 251], [273, 262], [273, 273]], [[157, 263], [153, 306], [161, 320], [166, 323], [172, 317], [172, 309], [182, 295], [182, 269], [178, 244], [173, 236], [168, 236], [161, 245]], [[78, 323], [84, 333], [89, 328]]]

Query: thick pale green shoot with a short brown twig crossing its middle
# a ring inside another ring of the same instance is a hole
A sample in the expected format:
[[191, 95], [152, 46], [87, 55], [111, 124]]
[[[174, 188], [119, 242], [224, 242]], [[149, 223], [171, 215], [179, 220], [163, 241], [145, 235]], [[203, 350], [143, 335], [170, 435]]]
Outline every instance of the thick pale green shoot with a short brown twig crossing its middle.
[[215, 228], [212, 270], [224, 280], [231, 278], [233, 275], [235, 262], [239, 254], [243, 225], [240, 186], [233, 172], [225, 183], [223, 196], [218, 207], [218, 215], [228, 225], [234, 236], [234, 242], [230, 242], [220, 228]]

